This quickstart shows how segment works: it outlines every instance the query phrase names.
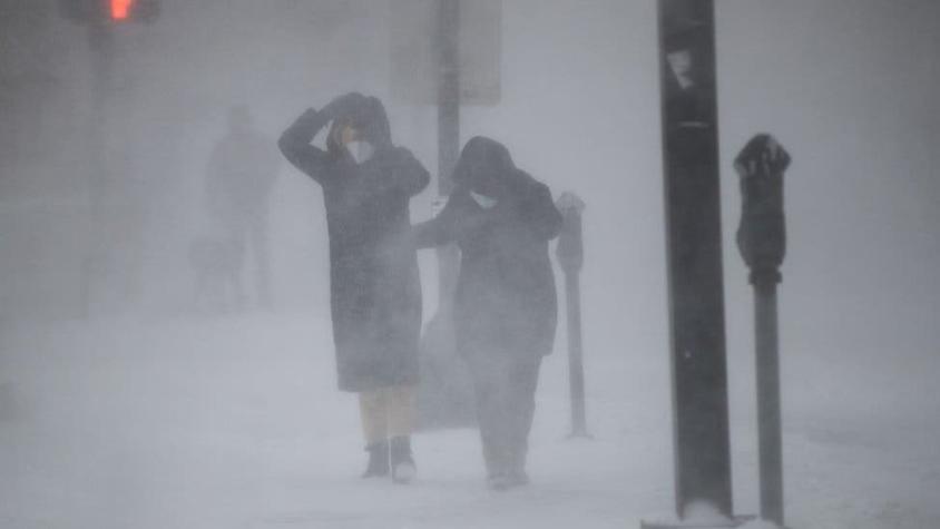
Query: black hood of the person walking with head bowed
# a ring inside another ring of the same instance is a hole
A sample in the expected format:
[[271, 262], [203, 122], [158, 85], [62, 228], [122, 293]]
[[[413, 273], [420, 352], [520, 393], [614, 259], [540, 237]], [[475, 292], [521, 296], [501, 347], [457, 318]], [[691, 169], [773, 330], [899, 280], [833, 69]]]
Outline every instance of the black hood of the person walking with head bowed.
[[505, 145], [483, 136], [474, 136], [460, 153], [453, 170], [453, 183], [484, 195], [498, 196], [505, 192], [509, 180], [519, 176], [519, 169]]

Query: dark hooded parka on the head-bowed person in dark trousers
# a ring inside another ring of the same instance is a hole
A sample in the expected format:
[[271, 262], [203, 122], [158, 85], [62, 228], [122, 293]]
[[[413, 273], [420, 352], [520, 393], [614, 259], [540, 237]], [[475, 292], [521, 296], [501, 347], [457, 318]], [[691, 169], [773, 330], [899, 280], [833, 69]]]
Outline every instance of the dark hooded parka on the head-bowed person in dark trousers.
[[518, 169], [502, 144], [484, 137], [467, 143], [453, 180], [447, 205], [415, 226], [415, 237], [420, 247], [460, 247], [459, 354], [549, 354], [557, 297], [548, 242], [561, 228], [551, 193]]

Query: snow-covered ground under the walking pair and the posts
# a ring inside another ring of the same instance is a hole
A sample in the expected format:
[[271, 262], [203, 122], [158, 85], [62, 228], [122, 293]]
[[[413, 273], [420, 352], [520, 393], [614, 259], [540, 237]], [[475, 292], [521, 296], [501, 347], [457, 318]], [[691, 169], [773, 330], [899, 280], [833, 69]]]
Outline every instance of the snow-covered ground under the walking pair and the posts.
[[[311, 316], [8, 325], [0, 528], [638, 528], [673, 507], [668, 363], [593, 352], [594, 439], [566, 439], [559, 351], [539, 389], [533, 483], [498, 493], [483, 487], [471, 430], [419, 434], [410, 487], [360, 480], [356, 404], [335, 391], [329, 327]], [[826, 417], [838, 406], [794, 402], [790, 526], [940, 527], [937, 417], [888, 429], [885, 413], [843, 423]], [[745, 415], [733, 428], [735, 504], [753, 513]]]

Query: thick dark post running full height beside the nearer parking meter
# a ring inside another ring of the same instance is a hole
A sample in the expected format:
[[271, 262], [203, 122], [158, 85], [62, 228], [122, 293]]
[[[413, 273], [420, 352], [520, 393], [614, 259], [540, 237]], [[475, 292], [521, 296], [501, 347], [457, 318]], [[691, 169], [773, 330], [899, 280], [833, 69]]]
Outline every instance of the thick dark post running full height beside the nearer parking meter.
[[712, 0], [659, 0], [676, 512], [732, 516]]

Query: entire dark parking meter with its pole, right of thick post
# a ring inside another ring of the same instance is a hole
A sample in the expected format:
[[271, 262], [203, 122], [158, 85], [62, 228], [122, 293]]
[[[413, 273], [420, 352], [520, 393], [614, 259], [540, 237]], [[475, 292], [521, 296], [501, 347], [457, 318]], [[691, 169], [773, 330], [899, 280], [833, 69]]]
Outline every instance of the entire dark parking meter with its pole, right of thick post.
[[783, 173], [790, 154], [772, 136], [761, 134], [735, 159], [741, 177], [741, 225], [737, 247], [754, 285], [754, 332], [757, 372], [757, 441], [761, 454], [761, 516], [783, 526], [783, 449], [780, 405], [780, 353], [776, 285], [786, 255]]

